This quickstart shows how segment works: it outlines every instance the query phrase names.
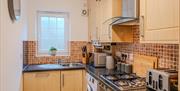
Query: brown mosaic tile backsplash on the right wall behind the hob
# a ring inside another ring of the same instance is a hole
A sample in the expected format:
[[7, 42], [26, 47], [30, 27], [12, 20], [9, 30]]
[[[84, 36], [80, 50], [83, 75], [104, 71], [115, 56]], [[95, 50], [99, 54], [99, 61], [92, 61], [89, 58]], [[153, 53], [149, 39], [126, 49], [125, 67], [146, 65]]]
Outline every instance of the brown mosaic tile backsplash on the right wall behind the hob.
[[133, 41], [133, 43], [119, 43], [114, 47], [120, 52], [157, 57], [159, 67], [178, 70], [178, 44], [140, 43], [138, 26], [133, 27]]

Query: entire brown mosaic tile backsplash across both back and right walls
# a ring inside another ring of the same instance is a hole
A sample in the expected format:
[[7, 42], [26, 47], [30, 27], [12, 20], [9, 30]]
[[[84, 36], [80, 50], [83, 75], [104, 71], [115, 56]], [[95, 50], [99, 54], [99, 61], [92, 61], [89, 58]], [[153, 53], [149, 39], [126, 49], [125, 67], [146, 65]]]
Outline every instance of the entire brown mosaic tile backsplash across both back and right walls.
[[[133, 27], [133, 43], [118, 43], [113, 46], [116, 51], [132, 54], [155, 56], [159, 60], [159, 67], [173, 68], [178, 70], [179, 46], [178, 44], [140, 43], [139, 27]], [[24, 41], [24, 61], [27, 64], [56, 63], [58, 59], [67, 59], [69, 62], [81, 62], [81, 47], [87, 45], [88, 51], [93, 47], [86, 41], [71, 41], [70, 56], [36, 56], [36, 41]]]

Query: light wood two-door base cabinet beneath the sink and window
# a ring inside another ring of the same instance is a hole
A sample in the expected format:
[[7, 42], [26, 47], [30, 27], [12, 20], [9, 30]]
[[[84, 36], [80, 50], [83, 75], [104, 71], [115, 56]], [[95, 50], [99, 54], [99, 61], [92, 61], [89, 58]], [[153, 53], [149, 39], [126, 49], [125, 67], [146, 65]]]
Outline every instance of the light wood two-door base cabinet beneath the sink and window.
[[86, 91], [85, 70], [27, 72], [23, 91]]

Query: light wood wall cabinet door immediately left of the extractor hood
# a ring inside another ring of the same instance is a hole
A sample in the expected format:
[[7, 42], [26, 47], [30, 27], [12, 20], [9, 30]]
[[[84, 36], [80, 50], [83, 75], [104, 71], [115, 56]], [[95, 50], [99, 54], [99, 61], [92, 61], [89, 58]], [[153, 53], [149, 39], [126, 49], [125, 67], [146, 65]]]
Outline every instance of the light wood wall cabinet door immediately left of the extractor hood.
[[100, 41], [101, 42], [113, 42], [113, 28], [109, 25], [112, 23], [111, 18], [121, 16], [121, 0], [102, 0], [102, 22]]

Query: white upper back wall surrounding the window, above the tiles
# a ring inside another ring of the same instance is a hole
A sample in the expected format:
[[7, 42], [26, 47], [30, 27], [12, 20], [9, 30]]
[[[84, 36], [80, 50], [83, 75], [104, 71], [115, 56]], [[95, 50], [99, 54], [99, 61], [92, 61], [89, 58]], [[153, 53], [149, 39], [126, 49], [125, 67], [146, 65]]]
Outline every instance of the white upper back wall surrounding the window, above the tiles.
[[81, 11], [87, 0], [28, 0], [28, 40], [36, 40], [37, 11], [69, 12], [72, 41], [88, 40], [88, 19]]

